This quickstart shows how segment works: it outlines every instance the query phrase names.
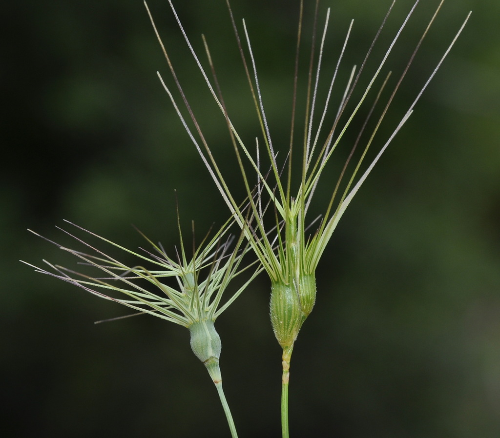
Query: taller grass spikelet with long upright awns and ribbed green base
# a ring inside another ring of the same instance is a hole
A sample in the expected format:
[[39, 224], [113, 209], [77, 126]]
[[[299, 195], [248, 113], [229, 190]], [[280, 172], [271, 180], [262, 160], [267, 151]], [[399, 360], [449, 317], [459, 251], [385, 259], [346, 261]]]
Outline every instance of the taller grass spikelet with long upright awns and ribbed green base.
[[[296, 42], [296, 56], [295, 56], [295, 81], [293, 85], [293, 104], [291, 108], [291, 123], [290, 123], [290, 135], [288, 147], [286, 150], [281, 151], [281, 160], [278, 160], [278, 150], [273, 146], [273, 141], [271, 139], [269, 123], [264, 111], [264, 92], [260, 89], [257, 69], [256, 69], [256, 56], [254, 55], [252, 46], [250, 44], [249, 32], [247, 26], [243, 20], [243, 32], [244, 38], [240, 38], [237, 26], [233, 19], [233, 14], [227, 1], [227, 6], [231, 15], [232, 25], [234, 29], [235, 39], [238, 43], [239, 51], [242, 58], [243, 68], [246, 74], [246, 78], [249, 84], [251, 95], [253, 97], [253, 102], [255, 110], [260, 123], [260, 137], [256, 138], [256, 153], [252, 153], [250, 147], [248, 147], [241, 139], [238, 134], [236, 127], [231, 122], [230, 116], [228, 114], [224, 99], [222, 97], [220, 87], [217, 82], [217, 76], [215, 74], [214, 62], [210, 55], [208, 45], [203, 38], [206, 56], [208, 59], [209, 67], [212, 72], [212, 80], [209, 79], [207, 72], [202, 66], [202, 63], [198, 55], [193, 50], [192, 44], [190, 43], [187, 34], [180, 22], [180, 19], [175, 12], [173, 4], [168, 0], [172, 11], [177, 19], [179, 28], [183, 34], [183, 37], [187, 43], [187, 46], [191, 52], [191, 55], [195, 59], [199, 70], [209, 88], [213, 99], [218, 106], [223, 119], [225, 120], [230, 139], [232, 142], [232, 148], [236, 155], [236, 160], [240, 169], [241, 177], [246, 188], [246, 194], [248, 199], [250, 199], [251, 206], [251, 219], [248, 220], [244, 212], [238, 207], [238, 203], [232, 194], [229, 185], [226, 183], [223, 173], [219, 166], [217, 165], [216, 159], [210, 149], [209, 141], [206, 139], [205, 135], [199, 127], [196, 116], [194, 115], [189, 102], [185, 96], [183, 88], [180, 84], [179, 79], [175, 73], [173, 65], [170, 61], [168, 53], [161, 41], [161, 38], [154, 26], [158, 41], [163, 49], [163, 53], [168, 62], [168, 66], [175, 80], [178, 92], [181, 96], [183, 103], [188, 111], [188, 117], [194, 126], [193, 132], [192, 128], [186, 118], [183, 116], [173, 97], [170, 89], [165, 85], [165, 82], [160, 77], [165, 91], [167, 92], [172, 104], [174, 105], [179, 118], [181, 119], [184, 128], [186, 129], [191, 141], [198, 150], [203, 162], [205, 163], [210, 175], [212, 176], [216, 187], [218, 188], [222, 198], [227, 204], [231, 214], [233, 215], [236, 223], [241, 227], [245, 237], [247, 238], [251, 248], [253, 249], [257, 259], [262, 264], [264, 270], [269, 276], [271, 283], [271, 294], [270, 294], [270, 319], [272, 323], [272, 328], [274, 335], [282, 348], [282, 396], [281, 396], [281, 424], [282, 424], [282, 435], [283, 437], [288, 437], [288, 414], [287, 414], [287, 404], [288, 404], [288, 381], [289, 381], [289, 367], [290, 359], [293, 351], [293, 346], [297, 338], [298, 332], [304, 323], [305, 319], [311, 313], [315, 302], [316, 295], [316, 278], [315, 270], [324, 252], [324, 249], [330, 240], [332, 233], [347, 208], [348, 204], [352, 200], [353, 196], [357, 193], [361, 184], [365, 181], [367, 175], [373, 169], [375, 163], [380, 158], [381, 154], [385, 151], [389, 143], [392, 141], [394, 136], [400, 130], [402, 125], [406, 122], [408, 117], [413, 111], [413, 107], [420, 98], [421, 94], [427, 87], [429, 81], [434, 76], [435, 72], [441, 65], [444, 57], [448, 54], [449, 50], [453, 46], [456, 38], [462, 31], [467, 19], [463, 22], [455, 37], [452, 39], [450, 45], [445, 50], [442, 58], [438, 62], [435, 69], [430, 74], [427, 81], [421, 87], [420, 91], [416, 94], [414, 101], [409, 106], [406, 113], [401, 117], [398, 125], [393, 129], [391, 135], [387, 140], [384, 141], [379, 152], [371, 163], [362, 171], [359, 178], [356, 179], [358, 171], [361, 169], [362, 162], [366, 156], [369, 146], [372, 144], [375, 134], [387, 112], [392, 99], [401, 84], [402, 79], [406, 75], [409, 66], [411, 65], [413, 58], [420, 47], [420, 44], [427, 34], [428, 29], [432, 25], [437, 13], [439, 12], [443, 1], [439, 3], [434, 14], [430, 18], [426, 29], [424, 30], [420, 40], [418, 41], [415, 49], [413, 50], [411, 56], [409, 57], [408, 63], [404, 70], [402, 71], [399, 79], [394, 85], [393, 91], [390, 93], [383, 110], [380, 112], [378, 120], [375, 123], [368, 139], [365, 142], [362, 153], [357, 159], [354, 168], [350, 171], [350, 176], [347, 182], [342, 186], [343, 178], [349, 169], [351, 158], [354, 156], [354, 152], [361, 141], [363, 131], [368, 124], [370, 117], [372, 116], [375, 105], [382, 94], [384, 87], [386, 86], [390, 72], [387, 74], [382, 84], [379, 86], [378, 93], [370, 97], [372, 99], [372, 106], [367, 112], [365, 121], [362, 123], [362, 128], [360, 129], [356, 141], [351, 147], [350, 154], [345, 161], [345, 164], [340, 172], [340, 175], [336, 181], [334, 189], [332, 190], [330, 201], [324, 209], [317, 228], [310, 234], [308, 234], [307, 229], [310, 226], [309, 221], [306, 219], [309, 207], [311, 205], [311, 200], [319, 183], [320, 176], [323, 174], [324, 170], [327, 168], [329, 159], [331, 158], [333, 152], [335, 151], [337, 145], [340, 143], [344, 137], [346, 131], [351, 125], [353, 119], [358, 115], [359, 109], [362, 107], [363, 103], [368, 99], [372, 86], [374, 86], [376, 79], [378, 78], [382, 67], [384, 66], [388, 55], [390, 54], [394, 44], [399, 38], [399, 35], [406, 25], [409, 17], [412, 15], [413, 10], [418, 4], [418, 0], [413, 4], [412, 8], [408, 12], [406, 18], [401, 24], [399, 30], [396, 32], [392, 42], [390, 43], [382, 59], [379, 61], [378, 66], [375, 71], [371, 73], [368, 84], [361, 92], [361, 96], [352, 106], [349, 106], [351, 99], [353, 99], [353, 91], [358, 84], [359, 77], [364, 71], [364, 66], [366, 60], [371, 54], [372, 47], [376, 42], [382, 28], [384, 27], [385, 21], [388, 18], [389, 13], [395, 1], [389, 7], [389, 10], [376, 33], [370, 48], [367, 51], [366, 57], [363, 60], [360, 68], [355, 72], [352, 69], [351, 76], [348, 83], [345, 86], [344, 97], [338, 105], [337, 112], [333, 121], [330, 122], [328, 126], [326, 124], [326, 113], [329, 107], [331, 90], [336, 79], [336, 73], [340, 61], [349, 38], [351, 26], [347, 31], [344, 44], [340, 50], [340, 55], [338, 57], [338, 62], [333, 73], [333, 77], [330, 81], [328, 95], [325, 99], [324, 107], [321, 112], [321, 116], [318, 121], [316, 121], [316, 111], [317, 111], [317, 89], [318, 82], [321, 72], [321, 61], [323, 57], [323, 47], [325, 43], [325, 35], [328, 27], [329, 20], [329, 9], [326, 14], [325, 24], [323, 27], [322, 36], [320, 39], [320, 47], [317, 54], [316, 64], [314, 66], [315, 58], [315, 46], [314, 43], [311, 48], [310, 64], [308, 69], [308, 83], [306, 89], [306, 106], [303, 110], [304, 113], [304, 127], [303, 136], [300, 140], [300, 156], [298, 159], [298, 169], [299, 177], [296, 178], [296, 173], [294, 172], [293, 165], [295, 162], [295, 149], [296, 140], [295, 134], [295, 119], [296, 113], [296, 101], [297, 101], [297, 76], [298, 76], [298, 60], [299, 60], [299, 49], [301, 42], [301, 32], [302, 32], [302, 15], [303, 15], [303, 1], [300, 1], [300, 16], [298, 23], [297, 32], [297, 42]], [[317, 6], [314, 22], [317, 22]], [[147, 5], [146, 5], [147, 8]], [[148, 10], [149, 12], [149, 10]], [[150, 14], [149, 14], [150, 15]], [[469, 13], [470, 15], [470, 13]], [[151, 16], [151, 15], [150, 15]], [[313, 30], [313, 41], [315, 40], [316, 29]], [[246, 43], [246, 49], [248, 51], [249, 61], [243, 50], [243, 44], [241, 43], [243, 39]], [[158, 73], [159, 75], [159, 73]], [[197, 134], [197, 138], [195, 134]], [[263, 146], [261, 144], [263, 143]], [[283, 144], [283, 141], [279, 142]], [[263, 149], [263, 151], [261, 150]], [[261, 156], [265, 156], [268, 162], [262, 165]], [[248, 175], [248, 170], [245, 168], [244, 161], [250, 165], [250, 172], [256, 174], [258, 178], [257, 191], [259, 196], [257, 199], [253, 197], [253, 188], [250, 181], [253, 180], [252, 176]], [[269, 172], [265, 173], [262, 170], [270, 169]], [[265, 197], [265, 199], [263, 199]], [[271, 208], [262, 209], [261, 205], [271, 204]], [[270, 218], [268, 218], [270, 216]], [[266, 224], [271, 224], [275, 232], [271, 232]], [[277, 245], [274, 245], [277, 242]]]

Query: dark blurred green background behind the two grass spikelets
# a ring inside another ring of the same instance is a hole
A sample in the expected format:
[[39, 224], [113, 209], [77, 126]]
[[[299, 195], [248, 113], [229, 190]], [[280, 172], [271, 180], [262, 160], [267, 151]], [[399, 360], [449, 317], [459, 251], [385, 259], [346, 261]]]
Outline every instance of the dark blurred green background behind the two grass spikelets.
[[[313, 2], [305, 3], [308, 40]], [[336, 101], [389, 3], [321, 1], [320, 22], [331, 7], [324, 83], [355, 19]], [[438, 2], [420, 3], [384, 68], [394, 68], [392, 84]], [[253, 141], [258, 125], [225, 2], [175, 4], [200, 54], [206, 35], [233, 122]], [[411, 4], [396, 4], [367, 72]], [[274, 146], [283, 150], [297, 5], [232, 1], [238, 23], [246, 19]], [[149, 6], [210, 144], [238, 180], [225, 123], [167, 2]], [[469, 9], [462, 36], [320, 263], [316, 306], [291, 364], [294, 437], [500, 436], [500, 2], [445, 2], [373, 152]], [[191, 219], [199, 240], [227, 217], [157, 79], [159, 70], [171, 83], [142, 2], [7, 2], [2, 14], [2, 435], [228, 436], [185, 329], [142, 316], [93, 325], [127, 311], [18, 262], [72, 266], [26, 231], [67, 242], [54, 228], [62, 219], [132, 249], [143, 245], [134, 224], [173, 251], [174, 190], [187, 235]], [[355, 129], [350, 135], [337, 166]], [[314, 214], [324, 211], [334, 167], [323, 175]], [[280, 349], [267, 313], [262, 276], [217, 320], [241, 437], [279, 436]]]

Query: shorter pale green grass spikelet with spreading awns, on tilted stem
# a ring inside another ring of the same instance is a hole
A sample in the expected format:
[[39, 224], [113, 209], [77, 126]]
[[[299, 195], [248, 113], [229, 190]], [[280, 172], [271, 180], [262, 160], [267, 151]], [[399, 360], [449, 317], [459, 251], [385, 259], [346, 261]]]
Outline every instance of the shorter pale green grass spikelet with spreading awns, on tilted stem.
[[[82, 227], [66, 222], [85, 232], [87, 237], [97, 238], [111, 247], [135, 256], [141, 264], [128, 266], [62, 229], [60, 230], [73, 237], [92, 254], [63, 247], [48, 239], [45, 240], [77, 257], [81, 261], [80, 263], [91, 268], [91, 271], [97, 270], [100, 275], [104, 276], [77, 272], [62, 266], [52, 265], [47, 261], [44, 262], [52, 269], [51, 271], [26, 262], [23, 263], [35, 268], [36, 272], [80, 287], [99, 298], [119, 303], [135, 310], [138, 314], [153, 315], [186, 327], [190, 334], [191, 349], [206, 367], [215, 385], [231, 436], [237, 437], [231, 412], [222, 390], [222, 376], [219, 367], [221, 342], [214, 322], [255, 278], [261, 268], [259, 266], [252, 267], [255, 265], [253, 262], [241, 267], [241, 261], [248, 246], [241, 247], [242, 235], [232, 246], [234, 239], [227, 235], [232, 221], [225, 223], [210, 240], [208, 240], [208, 236], [205, 237], [197, 248], [194, 248], [193, 244], [192, 258], [189, 258], [187, 254], [180, 226], [180, 252], [176, 251], [176, 257], [171, 258], [161, 245], [154, 244], [145, 236], [143, 237], [153, 247], [155, 253], [149, 251], [143, 251], [144, 254], [136, 253]], [[39, 236], [37, 233], [31, 232]], [[146, 268], [144, 263], [150, 267]], [[222, 295], [229, 282], [249, 268], [253, 269], [249, 277], [232, 293], [229, 299], [225, 302], [222, 301]], [[169, 285], [170, 279], [175, 281], [176, 287]], [[123, 295], [125, 298], [120, 297]]]

